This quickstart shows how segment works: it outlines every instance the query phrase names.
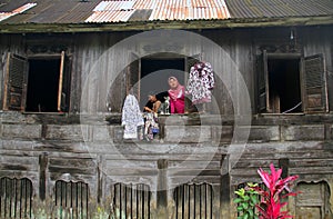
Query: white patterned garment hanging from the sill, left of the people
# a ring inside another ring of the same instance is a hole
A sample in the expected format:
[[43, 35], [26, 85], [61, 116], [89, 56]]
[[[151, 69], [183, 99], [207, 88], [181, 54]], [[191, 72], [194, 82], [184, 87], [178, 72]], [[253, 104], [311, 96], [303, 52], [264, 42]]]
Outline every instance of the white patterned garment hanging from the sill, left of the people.
[[137, 139], [138, 127], [143, 126], [142, 112], [140, 111], [139, 102], [132, 94], [128, 94], [122, 108], [121, 125], [124, 126], [123, 138]]

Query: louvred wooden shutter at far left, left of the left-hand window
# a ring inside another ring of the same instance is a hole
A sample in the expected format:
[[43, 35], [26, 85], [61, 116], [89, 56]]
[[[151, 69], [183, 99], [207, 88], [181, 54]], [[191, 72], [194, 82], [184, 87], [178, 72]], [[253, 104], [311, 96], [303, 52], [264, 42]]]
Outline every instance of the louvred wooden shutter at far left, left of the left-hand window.
[[4, 76], [3, 110], [24, 110], [28, 70], [29, 62], [26, 58], [8, 53]]

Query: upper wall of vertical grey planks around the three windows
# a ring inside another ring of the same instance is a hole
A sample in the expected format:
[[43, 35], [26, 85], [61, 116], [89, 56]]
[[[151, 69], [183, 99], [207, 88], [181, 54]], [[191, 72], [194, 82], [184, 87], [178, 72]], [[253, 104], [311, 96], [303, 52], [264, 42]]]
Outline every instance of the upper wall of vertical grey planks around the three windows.
[[[313, 27], [296, 28], [296, 43], [300, 52], [304, 56], [324, 53], [327, 81], [329, 98], [332, 100], [332, 28], [331, 27]], [[264, 28], [264, 29], [238, 29], [238, 30], [202, 30], [194, 31], [212, 40], [215, 46], [208, 42], [193, 42], [191, 40], [180, 39], [183, 49], [174, 48], [174, 53], [200, 54], [200, 57], [212, 62], [213, 68], [219, 69], [218, 74], [223, 76], [223, 80], [218, 77], [216, 88], [214, 90], [214, 99], [218, 101], [215, 106], [211, 106], [211, 112], [232, 115], [233, 104], [231, 102], [228, 89], [235, 89], [239, 92], [239, 80], [234, 72], [239, 71], [245, 81], [251, 97], [252, 111], [256, 112], [256, 57], [261, 52], [262, 46], [279, 46], [290, 43], [289, 28]], [[117, 42], [140, 32], [112, 32], [112, 33], [74, 33], [62, 37], [57, 36], [20, 36], [11, 34], [0, 36], [1, 68], [0, 76], [3, 77], [6, 70], [7, 52], [13, 52], [27, 56], [27, 48], [31, 43], [63, 43], [67, 39], [68, 54], [71, 57], [71, 93], [70, 93], [70, 111], [80, 112], [105, 112], [107, 103], [112, 104], [113, 112], [120, 112], [122, 101], [125, 97], [125, 71], [119, 69], [121, 66], [130, 63], [130, 54], [132, 52], [138, 56], [142, 54], [143, 47], [154, 47], [160, 43], [159, 40], [135, 41], [135, 44], [127, 44], [111, 49]], [[320, 37], [319, 37], [320, 36]], [[59, 38], [59, 40], [57, 40]], [[157, 37], [158, 38], [158, 37]], [[48, 40], [49, 39], [49, 40]], [[163, 36], [163, 39], [168, 37]], [[57, 42], [59, 41], [59, 42]], [[151, 44], [150, 44], [151, 43]], [[183, 44], [182, 44], [183, 43]], [[163, 48], [162, 48], [163, 51]], [[30, 56], [30, 54], [29, 54]], [[113, 76], [118, 76], [117, 78]], [[114, 79], [115, 80], [112, 80]], [[112, 81], [111, 81], [112, 80]], [[0, 84], [0, 91], [3, 93], [3, 80]], [[112, 84], [110, 84], [112, 83]], [[228, 88], [226, 84], [231, 84]], [[83, 97], [83, 99], [82, 99]], [[2, 94], [1, 94], [2, 98]], [[238, 102], [244, 102], [244, 96], [239, 96]], [[332, 109], [332, 102], [330, 106]], [[1, 101], [2, 103], [2, 101]], [[80, 104], [87, 104], [80, 108]]]

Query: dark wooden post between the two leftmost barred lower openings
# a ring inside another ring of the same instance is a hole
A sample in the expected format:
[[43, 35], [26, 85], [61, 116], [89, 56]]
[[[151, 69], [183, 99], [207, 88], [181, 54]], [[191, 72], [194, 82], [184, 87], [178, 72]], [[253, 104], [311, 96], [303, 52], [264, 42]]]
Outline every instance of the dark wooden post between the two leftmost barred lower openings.
[[47, 192], [47, 167], [48, 167], [48, 153], [43, 152], [39, 156], [39, 198], [46, 200]]

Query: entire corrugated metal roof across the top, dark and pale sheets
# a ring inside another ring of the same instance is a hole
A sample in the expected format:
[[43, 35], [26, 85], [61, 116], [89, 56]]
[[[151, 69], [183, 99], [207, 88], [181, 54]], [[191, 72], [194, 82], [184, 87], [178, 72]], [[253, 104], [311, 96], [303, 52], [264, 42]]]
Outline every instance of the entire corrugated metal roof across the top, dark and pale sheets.
[[[29, 2], [36, 6], [13, 13]], [[333, 0], [0, 0], [2, 24], [320, 16], [333, 16]]]

